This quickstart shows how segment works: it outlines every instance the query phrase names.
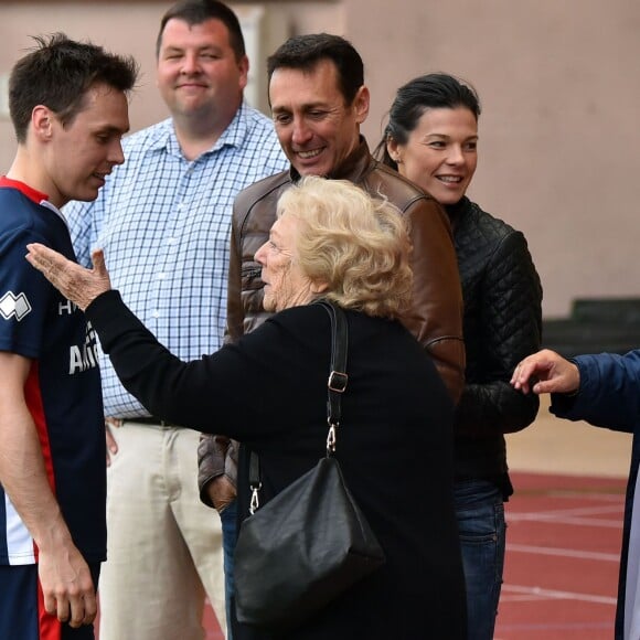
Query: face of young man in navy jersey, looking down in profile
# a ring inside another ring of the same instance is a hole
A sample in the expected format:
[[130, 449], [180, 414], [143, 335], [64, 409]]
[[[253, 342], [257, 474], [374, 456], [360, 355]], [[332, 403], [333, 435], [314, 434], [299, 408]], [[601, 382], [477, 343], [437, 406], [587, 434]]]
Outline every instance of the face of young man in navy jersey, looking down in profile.
[[46, 107], [38, 107], [38, 135], [46, 142], [46, 179], [41, 190], [58, 207], [70, 200], [95, 200], [105, 175], [125, 161], [120, 141], [129, 130], [127, 97], [113, 87], [96, 85], [66, 127]]

